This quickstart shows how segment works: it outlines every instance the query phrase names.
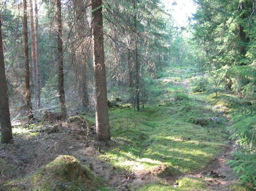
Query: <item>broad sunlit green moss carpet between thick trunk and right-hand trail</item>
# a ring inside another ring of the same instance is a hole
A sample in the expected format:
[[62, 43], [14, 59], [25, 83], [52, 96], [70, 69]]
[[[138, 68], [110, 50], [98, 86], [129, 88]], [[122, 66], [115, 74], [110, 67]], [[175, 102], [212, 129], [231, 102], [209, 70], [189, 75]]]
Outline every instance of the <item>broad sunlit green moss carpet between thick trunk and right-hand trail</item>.
[[[171, 74], [172, 75], [172, 74]], [[203, 101], [186, 93], [182, 84], [168, 78], [160, 79], [165, 86], [182, 89], [172, 94], [175, 100], [166, 104], [146, 106], [141, 112], [132, 108], [110, 111], [112, 139], [118, 146], [100, 157], [119, 169], [150, 171], [169, 167], [170, 174], [197, 172], [224, 150], [228, 132], [224, 118], [206, 126], [194, 124], [198, 117], [216, 117]]]

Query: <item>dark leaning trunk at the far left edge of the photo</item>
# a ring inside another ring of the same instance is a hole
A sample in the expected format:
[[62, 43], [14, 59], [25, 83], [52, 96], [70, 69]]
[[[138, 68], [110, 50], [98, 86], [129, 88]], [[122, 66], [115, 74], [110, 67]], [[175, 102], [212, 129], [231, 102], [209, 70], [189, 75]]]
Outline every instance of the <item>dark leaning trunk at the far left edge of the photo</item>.
[[1, 143], [12, 142], [12, 126], [10, 120], [9, 101], [7, 93], [7, 82], [4, 67], [4, 49], [2, 43], [2, 22], [0, 15], [0, 126]]

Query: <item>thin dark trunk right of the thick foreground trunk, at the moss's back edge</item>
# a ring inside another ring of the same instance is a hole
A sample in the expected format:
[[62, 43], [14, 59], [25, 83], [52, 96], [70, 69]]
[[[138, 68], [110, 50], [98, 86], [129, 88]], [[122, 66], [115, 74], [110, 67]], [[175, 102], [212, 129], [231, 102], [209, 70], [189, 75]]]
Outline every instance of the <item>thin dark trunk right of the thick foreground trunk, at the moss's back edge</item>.
[[137, 110], [140, 111], [140, 73], [139, 73], [139, 63], [138, 63], [138, 34], [137, 34], [137, 24], [136, 24], [136, 2], [133, 0], [133, 8], [134, 8], [134, 30], [135, 30], [135, 68], [136, 68], [136, 102], [137, 102]]

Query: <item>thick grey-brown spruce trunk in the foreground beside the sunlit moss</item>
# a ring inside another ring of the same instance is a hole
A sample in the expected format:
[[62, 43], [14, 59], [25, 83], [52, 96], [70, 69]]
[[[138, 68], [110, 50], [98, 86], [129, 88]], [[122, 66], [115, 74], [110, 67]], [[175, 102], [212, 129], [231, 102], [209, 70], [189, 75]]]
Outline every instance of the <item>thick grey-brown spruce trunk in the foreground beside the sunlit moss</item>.
[[96, 93], [96, 133], [97, 140], [110, 140], [108, 118], [108, 98], [106, 68], [104, 63], [104, 41], [102, 1], [92, 0], [92, 51]]

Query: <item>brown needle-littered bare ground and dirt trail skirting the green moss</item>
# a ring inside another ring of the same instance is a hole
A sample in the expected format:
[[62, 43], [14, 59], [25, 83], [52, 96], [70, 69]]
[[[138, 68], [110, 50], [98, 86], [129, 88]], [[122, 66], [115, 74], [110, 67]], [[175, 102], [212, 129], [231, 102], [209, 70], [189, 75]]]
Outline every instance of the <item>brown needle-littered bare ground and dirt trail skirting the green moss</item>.
[[[182, 82], [179, 83], [179, 85], [185, 87], [186, 93], [190, 94], [189, 81], [186, 80], [184, 75], [182, 75]], [[197, 98], [197, 101], [201, 101], [202, 104], [210, 106], [208, 102], [199, 100], [198, 96]], [[52, 124], [52, 121], [45, 122], [44, 125], [48, 126], [48, 123]], [[118, 148], [121, 143], [111, 141], [111, 147], [108, 147], [101, 142], [89, 141], [88, 146], [86, 146], [82, 138], [83, 135], [81, 135], [80, 125], [77, 122], [67, 123], [58, 121], [58, 123], [61, 124], [58, 127], [58, 132], [50, 134], [40, 133], [38, 136], [32, 136], [30, 138], [28, 138], [26, 134], [21, 134], [16, 137], [17, 140], [15, 144], [6, 147], [6, 153], [1, 153], [3, 150], [0, 150], [0, 155], [10, 156], [9, 161], [17, 166], [17, 168], [14, 169], [13, 175], [8, 175], [6, 179], [2, 180], [3, 182], [8, 178], [14, 178], [20, 171], [24, 174], [30, 174], [38, 167], [49, 163], [57, 156], [68, 154], [76, 157], [82, 164], [90, 165], [92, 171], [104, 177], [113, 189], [123, 191], [128, 191], [129, 189], [137, 190], [145, 184], [158, 183], [160, 181], [170, 185], [170, 188], [174, 184], [174, 177], [158, 178], [147, 172], [134, 172], [134, 174], [130, 174], [130, 172], [126, 170], [117, 170], [115, 166], [108, 163], [107, 159], [98, 157], [101, 154], [98, 148], [100, 147], [105, 152], [108, 152], [111, 148]], [[228, 125], [230, 125], [230, 123], [226, 124], [226, 126]], [[92, 140], [94, 139], [92, 138]], [[226, 164], [226, 161], [227, 159], [231, 159], [231, 154], [235, 152], [236, 149], [237, 148], [233, 146], [233, 142], [230, 141], [224, 151], [219, 156], [212, 159], [212, 162], [205, 169], [201, 169], [197, 173], [182, 175], [179, 178], [202, 177], [202, 180], [205, 181], [207, 185], [207, 188], [203, 189], [204, 191], [228, 191], [229, 185], [235, 183], [237, 178], [232, 173], [232, 169]], [[15, 156], [15, 158], [11, 156]], [[216, 172], [220, 176], [224, 175], [225, 178], [207, 177], [210, 175], [211, 171]]]

